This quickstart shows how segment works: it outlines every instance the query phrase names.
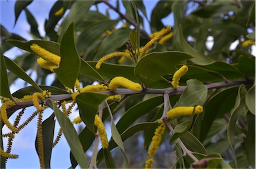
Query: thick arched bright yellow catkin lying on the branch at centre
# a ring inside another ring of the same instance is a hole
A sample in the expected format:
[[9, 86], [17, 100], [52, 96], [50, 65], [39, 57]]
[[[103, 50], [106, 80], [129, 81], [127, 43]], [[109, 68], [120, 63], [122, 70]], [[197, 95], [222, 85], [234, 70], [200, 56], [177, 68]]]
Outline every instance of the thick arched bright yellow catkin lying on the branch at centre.
[[139, 83], [134, 83], [125, 77], [115, 77], [109, 83], [109, 89], [115, 90], [118, 86], [124, 86], [125, 88], [129, 88], [131, 90], [141, 90], [141, 85]]

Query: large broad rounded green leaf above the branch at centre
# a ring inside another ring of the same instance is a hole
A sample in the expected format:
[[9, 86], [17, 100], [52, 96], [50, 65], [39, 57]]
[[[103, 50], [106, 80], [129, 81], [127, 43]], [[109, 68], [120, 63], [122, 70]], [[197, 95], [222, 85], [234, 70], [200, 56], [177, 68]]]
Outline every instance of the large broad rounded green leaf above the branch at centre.
[[135, 66], [135, 76], [145, 85], [149, 85], [168, 73], [174, 73], [175, 67], [191, 55], [179, 51], [149, 53]]

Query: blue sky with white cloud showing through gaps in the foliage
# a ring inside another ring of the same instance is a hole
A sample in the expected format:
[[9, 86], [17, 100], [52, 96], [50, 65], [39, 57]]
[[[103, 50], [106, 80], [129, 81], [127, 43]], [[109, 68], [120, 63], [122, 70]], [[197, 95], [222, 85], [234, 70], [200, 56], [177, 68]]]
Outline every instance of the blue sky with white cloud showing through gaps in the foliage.
[[[35, 0], [33, 3], [31, 3], [28, 6], [29, 11], [36, 16], [37, 23], [39, 25], [39, 32], [42, 36], [45, 35], [44, 31], [44, 23], [45, 19], [48, 19], [49, 10], [53, 6], [55, 1], [53, 0], [45, 0], [45, 1], [39, 1]], [[111, 3], [115, 3], [115, 1], [111, 1]], [[145, 1], [145, 6], [147, 10], [147, 17], [150, 19], [151, 17], [151, 11], [153, 7], [155, 7], [157, 1], [154, 0], [147, 0]], [[3, 25], [9, 32], [11, 33], [17, 33], [18, 35], [21, 35], [22, 37], [25, 37], [28, 41], [33, 39], [31, 35], [29, 35], [29, 29], [30, 26], [27, 23], [27, 20], [25, 18], [25, 12], [23, 11], [21, 15], [19, 16], [19, 19], [17, 20], [16, 25], [15, 23], [15, 12], [14, 12], [14, 6], [15, 1], [13, 0], [0, 0], [0, 23]], [[107, 9], [107, 6], [105, 5], [99, 5], [99, 10], [103, 11], [105, 13], [105, 9]], [[121, 6], [121, 9], [124, 10], [124, 8]], [[111, 15], [111, 19], [117, 18], [118, 15], [113, 12], [109, 11]], [[124, 11], [123, 11], [124, 13]], [[163, 20], [163, 23], [165, 25], [171, 25], [173, 26], [173, 15], [169, 15], [165, 17]], [[145, 30], [147, 33], [149, 33], [149, 24], [145, 22]], [[209, 41], [211, 41], [211, 38], [209, 38]], [[212, 47], [212, 43], [208, 43], [208, 47]], [[234, 49], [237, 43], [233, 43], [231, 45], [231, 49]], [[20, 55], [24, 51], [21, 51], [20, 49], [13, 48], [6, 53], [4, 53], [5, 56], [9, 57], [10, 59], [14, 59], [17, 55]], [[255, 46], [253, 47], [253, 55], [255, 55]], [[32, 78], [35, 77], [35, 75], [32, 74]], [[47, 85], [51, 84], [51, 81], [53, 77], [49, 76], [47, 77]], [[19, 88], [22, 88], [24, 85], [24, 81], [17, 80], [13, 85], [11, 85], [11, 92], [15, 92]], [[35, 108], [30, 107], [27, 108], [25, 115], [23, 116], [23, 119], [26, 119], [29, 117], [31, 113], [33, 113]], [[44, 112], [44, 119], [47, 118], [52, 113], [52, 110], [47, 110]], [[15, 113], [17, 114], [17, 112]], [[11, 122], [13, 122], [14, 116], [10, 118]], [[73, 112], [71, 114], [71, 119], [78, 116], [78, 112]], [[59, 126], [55, 125], [55, 133], [59, 131]], [[76, 126], [77, 128], [77, 126]], [[106, 126], [107, 128], [107, 126]], [[4, 127], [3, 133], [8, 132], [9, 130]], [[19, 154], [19, 158], [12, 160], [9, 159], [7, 162], [7, 168], [39, 168], [39, 158], [37, 156], [37, 153], [35, 151], [35, 136], [37, 132], [37, 120], [33, 120], [27, 127], [25, 127], [17, 136], [15, 136], [15, 139], [13, 141], [13, 149], [11, 151], [12, 154]], [[108, 134], [108, 138], [110, 135]], [[7, 139], [4, 140], [4, 142], [7, 142]], [[6, 144], [4, 144], [6, 147]], [[55, 148], [53, 148], [52, 157], [51, 157], [51, 167], [52, 168], [68, 168], [71, 166], [70, 160], [69, 160], [69, 152], [70, 148], [67, 144], [67, 141], [65, 140], [64, 136], [61, 137], [61, 140]], [[77, 167], [79, 168], [79, 167]]]

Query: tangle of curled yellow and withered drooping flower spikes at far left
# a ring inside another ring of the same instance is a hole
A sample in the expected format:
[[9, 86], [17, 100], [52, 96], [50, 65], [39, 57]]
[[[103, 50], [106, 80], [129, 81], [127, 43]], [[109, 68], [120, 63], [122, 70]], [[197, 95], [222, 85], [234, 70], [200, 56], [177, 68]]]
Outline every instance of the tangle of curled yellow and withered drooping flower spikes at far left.
[[[45, 98], [48, 98], [49, 96], [51, 96], [51, 92], [44, 90], [43, 92], [35, 92], [32, 95], [25, 95], [23, 96], [23, 98], [13, 98], [13, 100], [15, 101], [9, 100], [8, 98], [1, 98], [1, 100], [3, 100], [3, 104], [1, 106], [0, 120], [3, 121], [3, 123], [7, 126], [7, 128], [9, 128], [9, 130], [11, 130], [11, 132], [2, 135], [3, 137], [9, 137], [7, 150], [4, 151], [3, 149], [0, 148], [0, 154], [5, 158], [5, 162], [7, 162], [8, 158], [18, 158], [17, 154], [11, 154], [11, 146], [13, 144], [13, 138], [15, 137], [15, 134], [19, 133], [19, 131], [21, 131], [25, 126], [27, 126], [27, 124], [29, 124], [29, 122], [31, 122], [31, 120], [33, 120], [33, 118], [35, 118], [35, 116], [37, 116], [38, 114], [39, 117], [37, 122], [37, 142], [39, 145], [40, 163], [42, 164], [41, 167], [43, 168], [43, 138], [41, 134], [41, 122], [42, 122], [42, 113], [43, 113], [43, 110], [45, 110], [46, 106], [41, 106], [40, 104], [41, 102], [43, 102]], [[33, 112], [33, 114], [31, 114], [31, 116], [29, 116], [29, 118], [27, 118], [25, 122], [23, 122], [21, 125], [18, 126], [19, 121], [21, 120], [21, 116], [25, 112], [25, 108], [23, 108], [19, 112], [19, 114], [16, 116], [15, 122], [12, 125], [11, 122], [9, 122], [9, 119], [7, 116], [7, 108], [11, 106], [15, 106], [17, 102], [26, 102], [26, 101], [33, 102], [33, 105], [35, 106], [35, 108], [37, 108], [37, 110], [35, 110], [35, 112]]]

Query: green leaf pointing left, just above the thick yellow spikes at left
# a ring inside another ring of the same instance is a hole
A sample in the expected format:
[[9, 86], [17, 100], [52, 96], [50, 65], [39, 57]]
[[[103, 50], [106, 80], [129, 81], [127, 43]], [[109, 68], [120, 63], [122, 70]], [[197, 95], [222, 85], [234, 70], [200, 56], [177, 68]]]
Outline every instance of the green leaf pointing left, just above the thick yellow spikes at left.
[[60, 50], [59, 50], [59, 43], [53, 42], [53, 41], [44, 41], [44, 40], [32, 40], [32, 41], [17, 41], [17, 40], [7, 40], [8, 43], [11, 43], [11, 45], [14, 45], [15, 47], [18, 47], [20, 49], [23, 49], [25, 51], [29, 51], [30, 53], [33, 53], [33, 51], [30, 49], [30, 46], [35, 43], [42, 47], [43, 49], [60, 56]]

